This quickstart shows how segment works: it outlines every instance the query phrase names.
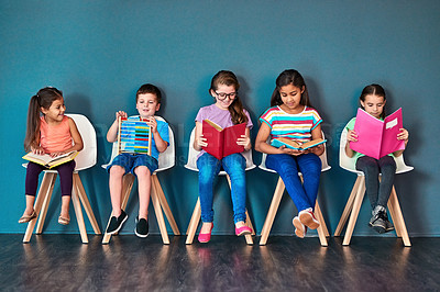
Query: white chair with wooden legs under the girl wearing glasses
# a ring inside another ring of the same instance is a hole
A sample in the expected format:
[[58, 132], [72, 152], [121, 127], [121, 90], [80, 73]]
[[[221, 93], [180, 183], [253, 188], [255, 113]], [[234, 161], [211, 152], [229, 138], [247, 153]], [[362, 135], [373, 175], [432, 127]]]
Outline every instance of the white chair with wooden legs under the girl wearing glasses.
[[[193, 132], [191, 132], [191, 135], [190, 135], [190, 138], [189, 138], [188, 161], [185, 165], [185, 168], [187, 168], [189, 170], [193, 170], [193, 171], [199, 171], [199, 169], [197, 168], [197, 155], [200, 151], [197, 151], [193, 147], [194, 139], [195, 139], [195, 131], [196, 131], [196, 128], [193, 128]], [[246, 159], [246, 171], [251, 170], [251, 169], [254, 169], [255, 165], [252, 161], [252, 150], [244, 151], [243, 156]], [[229, 188], [231, 188], [231, 179], [229, 178], [228, 173], [224, 170], [222, 170], [222, 171], [219, 172], [219, 176], [226, 176], [227, 179], [228, 179]], [[196, 231], [197, 231], [197, 227], [198, 227], [199, 222], [200, 222], [200, 217], [201, 217], [200, 198], [198, 198], [196, 206], [194, 207], [191, 220], [189, 221], [188, 231], [186, 232], [186, 234], [187, 234], [186, 244], [187, 245], [191, 245], [193, 244], [194, 236], [196, 235]], [[246, 210], [246, 225], [252, 229], [252, 235], [255, 235], [255, 231], [254, 231], [254, 228], [252, 226], [251, 218], [249, 217], [248, 210]], [[248, 245], [253, 245], [252, 235], [248, 234], [248, 235], [244, 236], [245, 239], [246, 239]]]

